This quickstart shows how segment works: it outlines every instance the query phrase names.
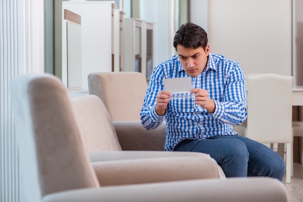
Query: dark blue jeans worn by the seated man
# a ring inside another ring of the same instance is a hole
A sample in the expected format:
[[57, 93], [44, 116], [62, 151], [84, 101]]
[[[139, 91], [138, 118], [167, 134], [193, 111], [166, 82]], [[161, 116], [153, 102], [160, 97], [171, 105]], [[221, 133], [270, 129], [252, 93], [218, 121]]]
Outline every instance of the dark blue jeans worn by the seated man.
[[279, 154], [264, 144], [240, 135], [217, 135], [204, 140], [184, 140], [174, 151], [209, 154], [227, 177], [268, 176], [282, 181], [285, 165]]

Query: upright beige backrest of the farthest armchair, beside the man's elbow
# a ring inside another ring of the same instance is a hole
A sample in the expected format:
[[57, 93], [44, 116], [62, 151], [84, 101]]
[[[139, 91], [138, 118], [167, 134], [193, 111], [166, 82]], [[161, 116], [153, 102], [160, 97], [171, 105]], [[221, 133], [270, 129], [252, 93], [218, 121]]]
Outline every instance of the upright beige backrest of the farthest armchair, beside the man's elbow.
[[112, 121], [139, 121], [147, 90], [140, 72], [92, 72], [89, 92], [103, 101]]

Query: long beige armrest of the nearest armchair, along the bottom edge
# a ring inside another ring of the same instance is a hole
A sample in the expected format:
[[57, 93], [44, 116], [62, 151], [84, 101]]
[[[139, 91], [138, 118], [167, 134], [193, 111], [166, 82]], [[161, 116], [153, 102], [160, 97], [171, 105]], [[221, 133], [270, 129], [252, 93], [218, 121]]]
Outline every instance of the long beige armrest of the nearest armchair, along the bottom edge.
[[288, 202], [284, 184], [249, 177], [83, 188], [47, 194], [42, 202]]

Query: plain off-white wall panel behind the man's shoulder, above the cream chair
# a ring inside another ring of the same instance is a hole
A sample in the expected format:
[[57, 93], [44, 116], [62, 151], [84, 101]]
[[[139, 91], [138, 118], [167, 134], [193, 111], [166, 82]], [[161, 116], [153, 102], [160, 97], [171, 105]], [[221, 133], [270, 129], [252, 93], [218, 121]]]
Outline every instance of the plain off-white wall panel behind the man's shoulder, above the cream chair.
[[209, 45], [245, 74], [291, 75], [291, 0], [209, 0]]

